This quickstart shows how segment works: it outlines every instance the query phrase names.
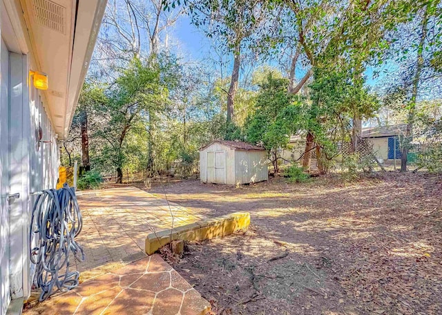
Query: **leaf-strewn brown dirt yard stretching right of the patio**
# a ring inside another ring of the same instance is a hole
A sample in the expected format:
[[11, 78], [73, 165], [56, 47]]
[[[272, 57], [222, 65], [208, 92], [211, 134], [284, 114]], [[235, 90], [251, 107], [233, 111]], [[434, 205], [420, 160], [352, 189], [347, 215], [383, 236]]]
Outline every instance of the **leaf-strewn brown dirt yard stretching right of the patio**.
[[251, 213], [249, 231], [192, 243], [174, 265], [214, 314], [442, 314], [442, 176], [148, 191], [210, 217]]

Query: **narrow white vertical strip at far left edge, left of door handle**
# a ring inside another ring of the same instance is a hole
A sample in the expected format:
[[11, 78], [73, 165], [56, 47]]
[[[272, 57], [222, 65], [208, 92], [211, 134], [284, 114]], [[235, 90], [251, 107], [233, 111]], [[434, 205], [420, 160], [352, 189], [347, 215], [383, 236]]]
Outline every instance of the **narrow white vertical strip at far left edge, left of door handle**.
[[0, 64], [0, 314], [6, 314], [10, 302], [9, 281], [9, 228], [10, 207], [8, 195], [10, 193], [9, 180], [9, 51], [1, 39]]

